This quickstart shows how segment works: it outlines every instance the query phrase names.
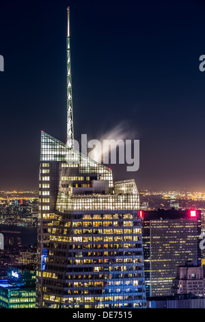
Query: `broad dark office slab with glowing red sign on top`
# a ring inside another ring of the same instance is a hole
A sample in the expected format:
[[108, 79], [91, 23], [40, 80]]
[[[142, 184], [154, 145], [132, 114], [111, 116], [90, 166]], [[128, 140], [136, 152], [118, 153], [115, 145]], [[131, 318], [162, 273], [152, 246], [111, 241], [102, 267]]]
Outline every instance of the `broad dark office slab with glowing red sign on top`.
[[141, 211], [146, 295], [172, 295], [176, 265], [201, 264], [199, 210]]

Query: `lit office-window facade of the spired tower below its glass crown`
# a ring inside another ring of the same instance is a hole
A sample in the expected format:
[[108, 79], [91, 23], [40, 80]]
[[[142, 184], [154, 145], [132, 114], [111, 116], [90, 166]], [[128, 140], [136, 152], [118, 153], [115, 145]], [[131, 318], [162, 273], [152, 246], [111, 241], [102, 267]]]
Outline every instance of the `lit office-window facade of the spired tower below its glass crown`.
[[[44, 306], [145, 305], [141, 221], [137, 212], [64, 212], [59, 225], [53, 222], [47, 231], [50, 247], [43, 272]], [[62, 271], [66, 271], [66, 277]]]

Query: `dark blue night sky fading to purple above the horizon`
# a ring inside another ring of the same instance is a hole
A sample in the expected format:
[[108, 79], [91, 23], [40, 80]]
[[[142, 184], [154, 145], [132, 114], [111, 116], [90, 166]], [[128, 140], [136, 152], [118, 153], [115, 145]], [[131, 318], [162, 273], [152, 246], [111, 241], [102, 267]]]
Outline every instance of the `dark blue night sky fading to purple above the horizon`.
[[138, 188], [205, 190], [205, 1], [0, 0], [0, 189], [38, 188], [40, 131], [66, 141], [70, 6], [74, 134], [126, 121]]

